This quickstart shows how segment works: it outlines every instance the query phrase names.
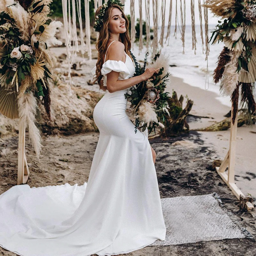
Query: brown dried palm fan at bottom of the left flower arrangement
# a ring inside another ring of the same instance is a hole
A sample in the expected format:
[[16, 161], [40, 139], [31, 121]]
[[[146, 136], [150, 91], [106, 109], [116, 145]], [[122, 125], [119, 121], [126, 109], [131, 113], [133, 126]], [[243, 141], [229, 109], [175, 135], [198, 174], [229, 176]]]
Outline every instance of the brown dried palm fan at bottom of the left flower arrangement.
[[11, 119], [19, 118], [17, 93], [4, 86], [0, 87], [0, 113]]

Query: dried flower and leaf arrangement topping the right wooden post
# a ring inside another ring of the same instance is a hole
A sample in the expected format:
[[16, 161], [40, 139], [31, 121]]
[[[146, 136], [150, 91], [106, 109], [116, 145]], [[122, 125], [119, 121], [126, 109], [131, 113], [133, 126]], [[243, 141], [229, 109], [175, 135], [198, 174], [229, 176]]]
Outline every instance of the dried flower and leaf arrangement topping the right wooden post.
[[220, 81], [220, 91], [231, 96], [234, 124], [239, 87], [241, 105], [247, 105], [249, 116], [256, 110], [253, 97], [256, 81], [256, 1], [207, 0], [205, 6], [224, 19], [212, 31], [210, 41], [225, 44], [214, 70], [214, 82]]

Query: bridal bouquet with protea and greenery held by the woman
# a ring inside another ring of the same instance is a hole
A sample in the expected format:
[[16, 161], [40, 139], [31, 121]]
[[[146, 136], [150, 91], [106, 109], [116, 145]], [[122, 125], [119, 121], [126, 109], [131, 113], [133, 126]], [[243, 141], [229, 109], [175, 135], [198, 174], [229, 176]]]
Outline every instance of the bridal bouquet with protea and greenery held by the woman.
[[167, 113], [169, 116], [169, 111], [167, 108], [167, 100], [170, 98], [168, 96], [169, 92], [164, 92], [166, 87], [166, 81], [170, 74], [165, 70], [168, 70], [168, 58], [165, 56], [159, 57], [156, 54], [153, 58], [153, 63], [149, 64], [147, 61], [148, 52], [145, 55], [144, 65], [141, 68], [140, 64], [136, 61], [134, 55], [130, 51], [131, 56], [135, 63], [135, 74], [134, 76], [139, 76], [145, 72], [147, 68], [160, 68], [158, 73], [155, 73], [147, 81], [143, 81], [139, 84], [132, 86], [129, 92], [125, 93], [125, 98], [131, 102], [130, 108], [133, 109], [133, 115], [135, 119], [135, 133], [137, 128], [142, 128], [142, 132], [149, 129], [148, 134], [157, 126], [164, 128], [165, 116]]

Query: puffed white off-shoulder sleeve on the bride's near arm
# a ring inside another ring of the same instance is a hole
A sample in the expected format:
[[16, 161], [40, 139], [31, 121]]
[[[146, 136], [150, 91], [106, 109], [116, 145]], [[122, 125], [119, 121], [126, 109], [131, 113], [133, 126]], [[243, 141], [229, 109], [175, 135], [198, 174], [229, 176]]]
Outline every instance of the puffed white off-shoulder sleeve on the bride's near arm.
[[[127, 57], [126, 57], [127, 58]], [[111, 71], [119, 72], [119, 76], [123, 79], [130, 75], [130, 71], [122, 60], [107, 60], [103, 63], [101, 74], [106, 75]]]

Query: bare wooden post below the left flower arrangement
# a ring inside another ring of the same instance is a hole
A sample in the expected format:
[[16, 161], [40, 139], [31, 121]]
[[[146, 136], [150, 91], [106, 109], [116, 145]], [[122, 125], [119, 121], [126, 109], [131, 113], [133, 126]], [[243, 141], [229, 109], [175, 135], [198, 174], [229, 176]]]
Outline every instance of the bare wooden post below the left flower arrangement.
[[25, 155], [25, 124], [19, 120], [19, 146], [18, 146], [18, 179], [17, 185], [28, 181], [29, 170], [27, 158]]

